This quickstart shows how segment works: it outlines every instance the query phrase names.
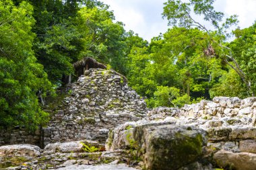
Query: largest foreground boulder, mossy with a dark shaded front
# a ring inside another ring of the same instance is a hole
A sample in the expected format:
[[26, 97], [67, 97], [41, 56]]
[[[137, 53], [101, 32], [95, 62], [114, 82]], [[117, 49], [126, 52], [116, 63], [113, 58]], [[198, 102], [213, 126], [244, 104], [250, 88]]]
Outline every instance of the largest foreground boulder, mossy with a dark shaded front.
[[110, 133], [106, 148], [111, 151], [134, 149], [146, 169], [161, 170], [179, 169], [197, 162], [205, 144], [205, 132], [193, 126], [123, 124]]

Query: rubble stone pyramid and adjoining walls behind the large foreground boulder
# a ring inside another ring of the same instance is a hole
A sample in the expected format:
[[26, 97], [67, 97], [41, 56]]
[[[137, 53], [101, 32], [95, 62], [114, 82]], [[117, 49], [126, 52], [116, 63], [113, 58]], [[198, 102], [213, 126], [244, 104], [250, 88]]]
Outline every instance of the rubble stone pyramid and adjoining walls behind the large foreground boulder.
[[247, 140], [256, 148], [256, 97], [214, 97], [213, 101], [202, 100], [180, 109], [155, 108], [148, 112], [145, 101], [128, 87], [125, 77], [103, 69], [85, 71], [67, 91], [57, 107], [49, 107], [52, 118], [47, 127], [36, 132], [24, 128], [0, 130], [0, 145], [43, 147], [85, 139], [104, 143], [111, 128], [142, 119], [142, 123], [172, 122], [201, 128], [206, 130], [208, 142], [219, 149], [228, 145], [230, 151], [245, 151], [241, 146]]

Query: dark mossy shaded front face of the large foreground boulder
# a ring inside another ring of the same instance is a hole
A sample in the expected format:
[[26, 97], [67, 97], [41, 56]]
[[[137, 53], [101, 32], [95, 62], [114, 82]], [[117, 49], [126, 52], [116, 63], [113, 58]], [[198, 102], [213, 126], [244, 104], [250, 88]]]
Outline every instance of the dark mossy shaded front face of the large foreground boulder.
[[179, 169], [197, 161], [202, 154], [203, 137], [193, 134], [193, 130], [177, 132], [170, 138], [155, 138], [154, 134], [150, 138], [147, 146], [149, 169]]

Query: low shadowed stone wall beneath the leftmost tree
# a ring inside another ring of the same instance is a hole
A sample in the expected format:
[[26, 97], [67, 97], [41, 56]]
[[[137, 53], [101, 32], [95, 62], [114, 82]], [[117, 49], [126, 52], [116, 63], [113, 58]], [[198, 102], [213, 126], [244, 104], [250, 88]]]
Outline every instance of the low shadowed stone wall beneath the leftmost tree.
[[40, 146], [40, 128], [34, 132], [26, 130], [24, 127], [0, 129], [0, 146], [7, 144], [35, 144]]

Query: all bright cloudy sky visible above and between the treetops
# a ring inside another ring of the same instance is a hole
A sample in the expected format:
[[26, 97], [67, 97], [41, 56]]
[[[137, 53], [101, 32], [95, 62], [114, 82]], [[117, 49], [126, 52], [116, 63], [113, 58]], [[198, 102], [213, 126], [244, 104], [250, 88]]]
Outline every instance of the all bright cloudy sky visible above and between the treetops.
[[[110, 5], [117, 21], [125, 24], [125, 30], [133, 30], [142, 38], [150, 41], [160, 32], [168, 29], [168, 22], [162, 19], [163, 3], [167, 0], [102, 0]], [[216, 0], [216, 11], [222, 11], [226, 16], [238, 15], [241, 28], [253, 24], [256, 16], [256, 0]], [[201, 22], [201, 19], [199, 19]], [[204, 22], [202, 22], [204, 24]], [[212, 28], [205, 23], [205, 26]]]

